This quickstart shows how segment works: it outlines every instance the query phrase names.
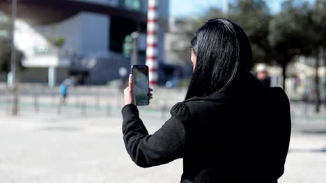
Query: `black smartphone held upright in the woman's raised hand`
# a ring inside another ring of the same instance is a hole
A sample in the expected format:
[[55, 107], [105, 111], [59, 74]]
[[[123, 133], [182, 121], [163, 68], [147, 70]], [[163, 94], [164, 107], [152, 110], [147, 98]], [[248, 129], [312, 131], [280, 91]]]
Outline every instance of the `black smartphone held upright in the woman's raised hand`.
[[132, 65], [136, 105], [149, 105], [149, 78], [146, 65]]

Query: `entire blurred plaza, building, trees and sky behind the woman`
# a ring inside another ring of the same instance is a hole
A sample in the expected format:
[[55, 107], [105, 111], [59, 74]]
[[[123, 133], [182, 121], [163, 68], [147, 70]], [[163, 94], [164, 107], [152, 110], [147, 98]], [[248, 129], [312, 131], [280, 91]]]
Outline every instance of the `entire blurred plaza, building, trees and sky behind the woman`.
[[158, 130], [187, 92], [189, 40], [215, 17], [244, 28], [252, 73], [290, 98], [279, 182], [325, 182], [325, 0], [1, 0], [0, 182], [179, 182], [181, 160], [143, 169], [125, 152], [123, 89], [131, 64], [150, 67], [139, 110]]

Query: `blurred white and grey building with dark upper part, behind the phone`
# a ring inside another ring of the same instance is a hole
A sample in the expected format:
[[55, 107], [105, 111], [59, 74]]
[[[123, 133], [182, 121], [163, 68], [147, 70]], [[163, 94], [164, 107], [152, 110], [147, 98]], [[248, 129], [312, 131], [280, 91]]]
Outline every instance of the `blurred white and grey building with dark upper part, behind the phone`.
[[[15, 45], [24, 53], [27, 68], [22, 81], [53, 85], [73, 75], [82, 83], [105, 84], [119, 77], [120, 67], [130, 67], [130, 58], [122, 55], [123, 42], [134, 31], [141, 33], [139, 53], [144, 63], [147, 6], [147, 0], [18, 1]], [[10, 1], [0, 2], [6, 15], [10, 8]], [[159, 13], [163, 62], [169, 1], [160, 1]]]

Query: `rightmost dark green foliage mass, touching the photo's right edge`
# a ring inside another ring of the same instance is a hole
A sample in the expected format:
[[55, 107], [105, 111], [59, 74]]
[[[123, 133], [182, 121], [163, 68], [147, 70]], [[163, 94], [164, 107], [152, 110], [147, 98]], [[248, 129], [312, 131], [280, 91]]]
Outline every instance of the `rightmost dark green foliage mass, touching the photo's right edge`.
[[295, 55], [315, 56], [326, 46], [325, 0], [311, 5], [306, 1], [285, 1], [281, 12], [270, 22], [269, 41], [277, 64], [286, 66]]

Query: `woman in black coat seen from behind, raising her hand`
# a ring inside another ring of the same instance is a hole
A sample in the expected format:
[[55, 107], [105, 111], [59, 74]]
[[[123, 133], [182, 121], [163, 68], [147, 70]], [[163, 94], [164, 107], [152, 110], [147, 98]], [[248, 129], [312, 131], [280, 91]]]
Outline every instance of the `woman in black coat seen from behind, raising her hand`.
[[181, 182], [277, 182], [290, 141], [288, 97], [249, 73], [251, 46], [237, 24], [211, 19], [191, 45], [194, 73], [185, 101], [152, 135], [139, 119], [130, 78], [122, 110], [130, 157], [141, 167], [183, 158]]

